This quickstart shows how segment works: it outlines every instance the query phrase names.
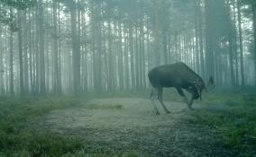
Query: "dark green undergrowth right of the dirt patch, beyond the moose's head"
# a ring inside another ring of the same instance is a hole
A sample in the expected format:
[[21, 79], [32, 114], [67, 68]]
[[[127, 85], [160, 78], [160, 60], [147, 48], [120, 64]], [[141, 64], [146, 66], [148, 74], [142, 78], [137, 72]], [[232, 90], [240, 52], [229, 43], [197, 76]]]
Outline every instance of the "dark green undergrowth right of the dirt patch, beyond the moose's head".
[[216, 92], [204, 101], [207, 108], [191, 112], [187, 120], [212, 126], [237, 156], [256, 156], [256, 92]]

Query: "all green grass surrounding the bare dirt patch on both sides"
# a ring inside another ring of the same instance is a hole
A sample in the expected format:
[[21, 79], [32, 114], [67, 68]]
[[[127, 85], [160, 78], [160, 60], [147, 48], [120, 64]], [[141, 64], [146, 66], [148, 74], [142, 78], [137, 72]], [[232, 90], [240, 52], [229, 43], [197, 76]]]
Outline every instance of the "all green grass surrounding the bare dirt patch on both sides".
[[[66, 109], [84, 104], [93, 98], [143, 97], [150, 92], [90, 93], [78, 97], [45, 97], [28, 99], [0, 98], [0, 157], [82, 157], [123, 156], [142, 154], [127, 150], [98, 150], [88, 148], [86, 141], [75, 137], [38, 132], [31, 122], [54, 109]], [[175, 91], [165, 92], [165, 100], [181, 100]], [[256, 152], [256, 92], [204, 93], [206, 109], [190, 112], [186, 119], [199, 126], [211, 126], [224, 146], [236, 150], [238, 156], [255, 156]], [[123, 109], [120, 104], [106, 106], [88, 104], [89, 109]]]

